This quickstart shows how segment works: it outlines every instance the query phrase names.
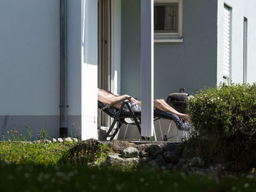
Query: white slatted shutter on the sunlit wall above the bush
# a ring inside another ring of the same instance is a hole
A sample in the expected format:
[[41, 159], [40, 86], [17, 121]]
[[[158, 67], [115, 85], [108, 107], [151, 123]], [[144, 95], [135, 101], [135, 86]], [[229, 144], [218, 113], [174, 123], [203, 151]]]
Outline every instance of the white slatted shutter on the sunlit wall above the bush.
[[223, 81], [230, 80], [230, 7], [224, 7], [223, 15]]

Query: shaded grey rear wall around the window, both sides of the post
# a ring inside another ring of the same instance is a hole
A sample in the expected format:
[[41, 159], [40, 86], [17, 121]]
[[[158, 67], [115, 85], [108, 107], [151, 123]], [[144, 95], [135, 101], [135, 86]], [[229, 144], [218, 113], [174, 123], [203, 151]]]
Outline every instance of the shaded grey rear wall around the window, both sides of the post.
[[[199, 6], [200, 5], [200, 6]], [[154, 97], [217, 82], [217, 1], [184, 0], [182, 43], [155, 43]], [[140, 99], [140, 1], [122, 1], [121, 93]]]

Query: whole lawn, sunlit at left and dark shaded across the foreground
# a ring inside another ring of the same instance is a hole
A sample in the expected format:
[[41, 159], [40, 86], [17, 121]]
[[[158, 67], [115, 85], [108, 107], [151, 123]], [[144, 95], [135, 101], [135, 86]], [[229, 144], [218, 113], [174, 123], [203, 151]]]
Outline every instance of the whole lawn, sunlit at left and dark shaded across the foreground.
[[0, 142], [0, 191], [256, 191], [256, 178], [221, 179], [184, 173], [63, 164], [71, 145]]

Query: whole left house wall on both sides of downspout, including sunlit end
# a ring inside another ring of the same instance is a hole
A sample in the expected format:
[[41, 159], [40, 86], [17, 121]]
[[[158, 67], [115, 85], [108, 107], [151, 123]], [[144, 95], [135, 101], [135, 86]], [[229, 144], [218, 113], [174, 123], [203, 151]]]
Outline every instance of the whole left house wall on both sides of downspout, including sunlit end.
[[[97, 1], [67, 2], [68, 134], [97, 138]], [[29, 123], [59, 137], [59, 6], [0, 1], [0, 134]]]

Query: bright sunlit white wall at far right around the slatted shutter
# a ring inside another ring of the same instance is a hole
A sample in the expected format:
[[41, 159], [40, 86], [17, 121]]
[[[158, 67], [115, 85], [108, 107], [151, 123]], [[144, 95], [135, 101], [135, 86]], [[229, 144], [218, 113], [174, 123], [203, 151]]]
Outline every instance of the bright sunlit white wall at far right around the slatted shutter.
[[223, 11], [224, 4], [232, 8], [231, 16], [231, 80], [243, 82], [244, 58], [244, 17], [248, 19], [248, 53], [247, 53], [247, 81], [256, 82], [256, 1], [255, 0], [218, 0], [218, 66], [217, 82], [222, 81], [222, 53], [223, 53]]

